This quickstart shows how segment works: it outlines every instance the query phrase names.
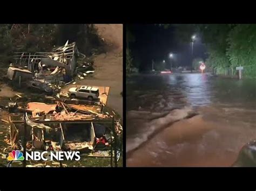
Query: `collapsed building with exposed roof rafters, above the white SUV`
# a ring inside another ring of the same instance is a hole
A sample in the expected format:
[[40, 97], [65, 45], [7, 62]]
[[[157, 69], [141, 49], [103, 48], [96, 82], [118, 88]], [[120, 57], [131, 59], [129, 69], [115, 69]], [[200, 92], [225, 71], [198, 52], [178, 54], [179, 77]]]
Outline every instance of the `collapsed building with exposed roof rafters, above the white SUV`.
[[76, 43], [68, 44], [68, 41], [64, 46], [53, 48], [52, 52], [16, 52], [15, 62], [8, 68], [7, 77], [19, 83], [35, 81], [27, 85], [36, 84], [39, 88], [43, 84], [58, 84], [61, 81], [67, 83], [75, 73], [78, 55], [80, 53]]

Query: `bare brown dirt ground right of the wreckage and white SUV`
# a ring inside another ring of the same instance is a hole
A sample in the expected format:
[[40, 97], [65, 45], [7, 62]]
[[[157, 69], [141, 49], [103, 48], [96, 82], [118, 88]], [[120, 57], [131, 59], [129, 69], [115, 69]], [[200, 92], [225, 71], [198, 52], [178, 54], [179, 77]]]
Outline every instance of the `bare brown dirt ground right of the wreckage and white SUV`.
[[107, 106], [116, 110], [123, 118], [123, 25], [96, 24], [100, 37], [110, 45], [110, 51], [95, 58], [93, 79], [84, 79], [79, 83], [91, 86], [109, 86], [110, 95]]

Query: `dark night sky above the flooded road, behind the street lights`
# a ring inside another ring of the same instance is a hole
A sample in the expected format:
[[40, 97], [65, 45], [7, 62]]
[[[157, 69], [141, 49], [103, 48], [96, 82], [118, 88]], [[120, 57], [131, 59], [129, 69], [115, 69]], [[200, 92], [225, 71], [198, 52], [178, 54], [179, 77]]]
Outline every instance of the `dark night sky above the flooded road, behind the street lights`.
[[[151, 60], [165, 60], [170, 63], [168, 55], [174, 53], [174, 61], [178, 66], [191, 66], [191, 43], [180, 43], [175, 35], [173, 26], [169, 29], [153, 24], [133, 24], [129, 25], [129, 30], [135, 37], [134, 43], [129, 46], [132, 50], [134, 59], [142, 62], [142, 69], [151, 67]], [[194, 43], [193, 58], [206, 59], [206, 48], [201, 44], [200, 37], [197, 36]]]

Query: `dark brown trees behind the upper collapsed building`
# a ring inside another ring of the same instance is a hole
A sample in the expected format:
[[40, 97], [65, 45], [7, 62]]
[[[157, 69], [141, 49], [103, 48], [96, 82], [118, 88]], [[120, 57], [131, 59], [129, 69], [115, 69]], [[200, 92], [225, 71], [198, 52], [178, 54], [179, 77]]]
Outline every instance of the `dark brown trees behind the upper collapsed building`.
[[80, 52], [103, 52], [92, 24], [0, 24], [0, 62], [8, 64], [12, 53], [51, 51], [53, 46], [76, 42]]

